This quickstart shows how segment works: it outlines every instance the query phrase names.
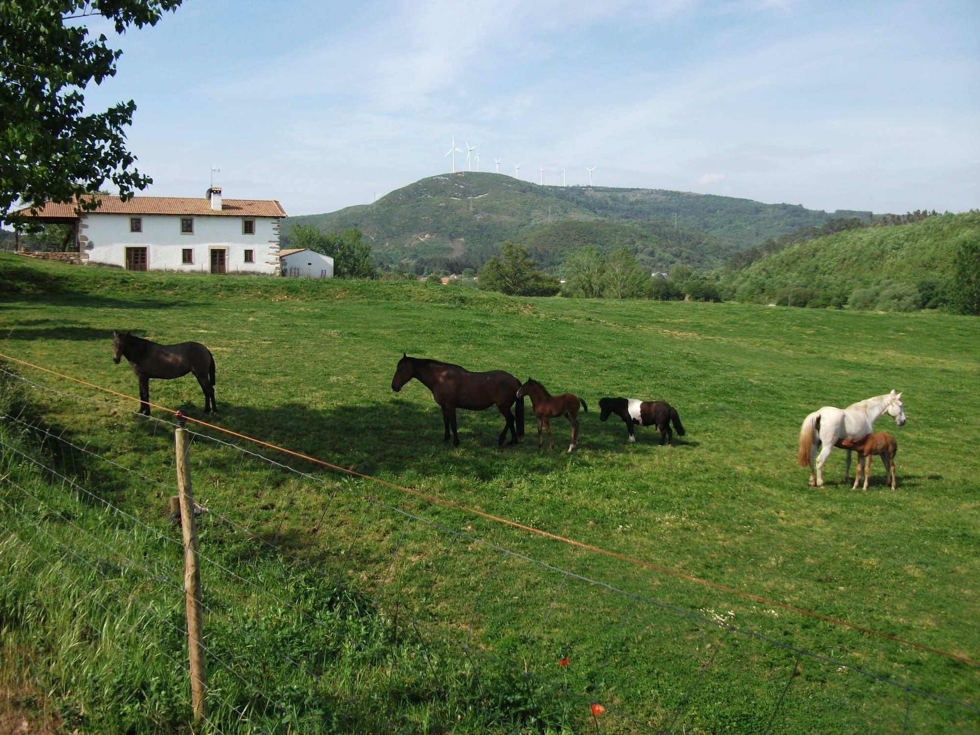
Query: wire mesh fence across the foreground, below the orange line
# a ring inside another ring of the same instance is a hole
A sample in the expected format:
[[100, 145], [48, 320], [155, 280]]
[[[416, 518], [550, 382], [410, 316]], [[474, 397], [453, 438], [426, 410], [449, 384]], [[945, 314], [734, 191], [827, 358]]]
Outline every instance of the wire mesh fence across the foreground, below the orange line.
[[[100, 692], [85, 707], [62, 697], [69, 724], [182, 726], [176, 424], [0, 377], [4, 614], [57, 643], [46, 671], [27, 668], [44, 691]], [[801, 643], [813, 631], [735, 625], [716, 597], [667, 603], [587, 549], [495, 536], [455, 509], [190, 434], [211, 731], [980, 727], [973, 705], [896, 673], [921, 652], [859, 665]]]

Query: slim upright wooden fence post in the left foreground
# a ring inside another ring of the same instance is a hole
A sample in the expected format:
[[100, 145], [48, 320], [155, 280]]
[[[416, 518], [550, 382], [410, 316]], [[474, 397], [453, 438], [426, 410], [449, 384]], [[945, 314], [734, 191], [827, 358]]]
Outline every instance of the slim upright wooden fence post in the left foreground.
[[194, 719], [207, 714], [207, 674], [204, 666], [204, 635], [201, 632], [201, 570], [198, 566], [197, 523], [194, 494], [190, 484], [190, 441], [184, 428], [186, 417], [177, 414], [174, 431], [177, 453], [177, 488], [180, 491], [180, 527], [184, 540], [184, 597], [187, 603], [187, 652], [190, 659], [190, 694]]

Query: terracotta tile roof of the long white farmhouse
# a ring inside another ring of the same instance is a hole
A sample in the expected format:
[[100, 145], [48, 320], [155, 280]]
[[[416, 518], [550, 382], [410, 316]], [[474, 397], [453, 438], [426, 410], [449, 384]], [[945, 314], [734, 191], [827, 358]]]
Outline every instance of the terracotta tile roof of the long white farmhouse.
[[[221, 210], [211, 209], [211, 202], [204, 197], [132, 197], [123, 202], [116, 196], [100, 196], [99, 208], [92, 214], [110, 215], [192, 215], [194, 217], [285, 217], [282, 206], [274, 199], [224, 199]], [[76, 218], [73, 203], [47, 202], [36, 215], [30, 209], [18, 214], [37, 218]]]

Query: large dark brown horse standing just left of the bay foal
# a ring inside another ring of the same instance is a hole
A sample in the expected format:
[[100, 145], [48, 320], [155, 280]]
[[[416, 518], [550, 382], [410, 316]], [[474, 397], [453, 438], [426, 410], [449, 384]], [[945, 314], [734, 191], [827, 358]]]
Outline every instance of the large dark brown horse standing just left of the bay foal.
[[[517, 437], [524, 435], [524, 402], [516, 398], [520, 381], [510, 372], [470, 372], [452, 363], [410, 358], [403, 353], [402, 359], [398, 361], [398, 368], [395, 368], [395, 376], [391, 379], [391, 389], [397, 393], [412, 378], [416, 378], [432, 391], [432, 398], [442, 407], [442, 422], [446, 429], [443, 441], [449, 441], [449, 429], [452, 427], [453, 446], [460, 446], [460, 437], [456, 431], [457, 409], [483, 411], [491, 406], [496, 406], [507, 420], [497, 440], [498, 446], [504, 446], [508, 429], [511, 431], [511, 444], [516, 444]], [[516, 425], [514, 414], [511, 413], [511, 407], [515, 403]]]

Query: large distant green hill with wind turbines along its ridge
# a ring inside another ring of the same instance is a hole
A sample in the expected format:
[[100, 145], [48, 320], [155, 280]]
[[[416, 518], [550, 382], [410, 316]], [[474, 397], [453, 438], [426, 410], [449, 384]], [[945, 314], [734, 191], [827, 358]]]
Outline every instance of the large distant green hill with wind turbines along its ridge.
[[[868, 215], [662, 189], [539, 186], [499, 173], [457, 172], [423, 178], [370, 205], [291, 217], [282, 231], [288, 242], [294, 224], [313, 224], [326, 231], [358, 227], [383, 267], [461, 270], [482, 265], [504, 241], [519, 240], [549, 224], [606, 221], [644, 230], [636, 234], [597, 230], [596, 234], [603, 243], [622, 237], [647, 243], [649, 265], [685, 262], [705, 267], [720, 265], [714, 263], [715, 257], [726, 249], [719, 243], [725, 243], [731, 255], [768, 237], [834, 217], [866, 219]], [[665, 235], [666, 223], [689, 233], [682, 245]], [[548, 233], [541, 237], [547, 239]], [[700, 244], [695, 242], [698, 238], [703, 238]], [[579, 243], [585, 244], [589, 243]], [[671, 257], [676, 260], [668, 263]]]

